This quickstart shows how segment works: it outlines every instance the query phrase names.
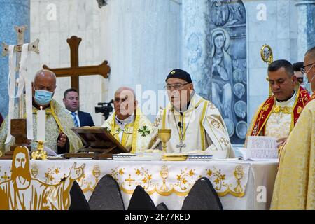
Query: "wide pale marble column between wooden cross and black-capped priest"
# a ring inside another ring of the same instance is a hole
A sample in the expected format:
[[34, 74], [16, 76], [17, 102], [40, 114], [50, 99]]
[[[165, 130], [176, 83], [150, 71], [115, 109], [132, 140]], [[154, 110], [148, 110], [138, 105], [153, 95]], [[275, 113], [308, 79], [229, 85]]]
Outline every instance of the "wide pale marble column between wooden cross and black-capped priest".
[[109, 99], [120, 86], [134, 88], [140, 108], [152, 121], [158, 106], [165, 106], [162, 99], [158, 102], [158, 90], [164, 89], [169, 71], [180, 67], [181, 1], [107, 3], [101, 11], [100, 55], [111, 66]]

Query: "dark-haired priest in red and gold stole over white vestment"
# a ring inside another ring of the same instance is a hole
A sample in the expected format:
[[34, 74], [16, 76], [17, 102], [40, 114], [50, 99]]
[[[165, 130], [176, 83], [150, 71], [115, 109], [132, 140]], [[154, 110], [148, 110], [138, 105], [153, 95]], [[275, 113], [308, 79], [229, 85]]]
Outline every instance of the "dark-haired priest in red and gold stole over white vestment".
[[280, 148], [309, 100], [309, 93], [302, 87], [295, 90], [297, 77], [286, 60], [269, 64], [267, 81], [273, 95], [256, 111], [247, 135], [276, 137]]

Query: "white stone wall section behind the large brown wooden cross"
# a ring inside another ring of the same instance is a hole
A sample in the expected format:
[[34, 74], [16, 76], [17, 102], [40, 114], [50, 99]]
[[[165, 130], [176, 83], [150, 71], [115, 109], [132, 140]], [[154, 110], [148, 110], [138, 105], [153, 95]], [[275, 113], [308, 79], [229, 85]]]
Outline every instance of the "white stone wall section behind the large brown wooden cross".
[[[31, 58], [31, 72], [43, 64], [50, 68], [70, 66], [70, 48], [66, 42], [71, 36], [82, 38], [79, 46], [79, 65], [97, 65], [106, 58], [102, 55], [100, 9], [91, 0], [31, 0], [31, 39], [39, 38], [40, 55]], [[101, 76], [80, 77], [80, 110], [92, 114], [96, 125], [102, 124], [102, 115], [94, 113], [97, 102], [107, 97], [107, 84]], [[70, 78], [57, 78], [55, 99], [61, 104], [64, 90], [71, 87]]]

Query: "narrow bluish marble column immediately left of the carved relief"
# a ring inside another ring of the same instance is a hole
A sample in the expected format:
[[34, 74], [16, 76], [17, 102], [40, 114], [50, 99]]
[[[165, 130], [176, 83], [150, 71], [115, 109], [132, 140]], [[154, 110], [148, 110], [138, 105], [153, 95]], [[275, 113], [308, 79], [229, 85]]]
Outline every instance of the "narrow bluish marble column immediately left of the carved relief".
[[207, 88], [202, 83], [209, 76], [210, 48], [207, 36], [210, 29], [207, 29], [206, 20], [209, 4], [207, 0], [183, 0], [182, 11], [182, 66], [192, 76], [198, 94], [207, 97]]

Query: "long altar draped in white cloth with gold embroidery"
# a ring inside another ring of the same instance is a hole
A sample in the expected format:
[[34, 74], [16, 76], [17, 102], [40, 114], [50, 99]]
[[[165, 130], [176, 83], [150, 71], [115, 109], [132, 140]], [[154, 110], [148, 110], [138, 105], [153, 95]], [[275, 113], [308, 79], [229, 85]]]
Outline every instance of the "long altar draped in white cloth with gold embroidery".
[[[124, 161], [124, 160], [31, 160], [31, 175], [56, 184], [69, 174], [74, 162], [85, 164], [77, 182], [87, 200], [102, 176], [118, 181], [125, 209], [137, 185], [150, 195], [155, 205], [164, 202], [169, 209], [181, 209], [195, 181], [207, 177], [223, 204], [223, 209], [269, 209], [278, 167], [277, 160], [243, 161]], [[10, 179], [12, 160], [0, 161], [0, 181]]]

